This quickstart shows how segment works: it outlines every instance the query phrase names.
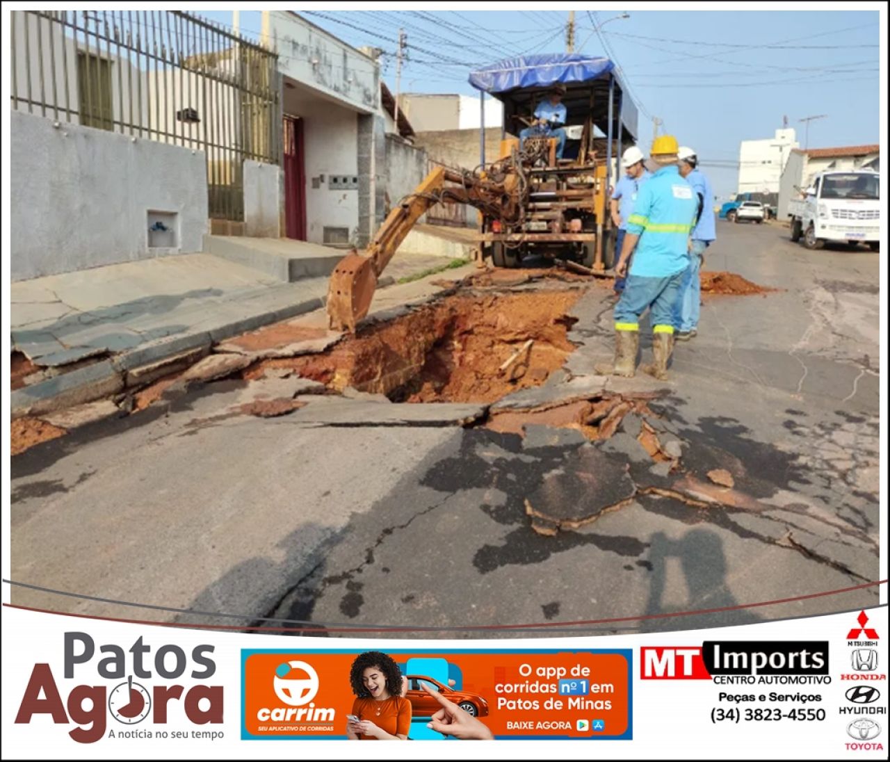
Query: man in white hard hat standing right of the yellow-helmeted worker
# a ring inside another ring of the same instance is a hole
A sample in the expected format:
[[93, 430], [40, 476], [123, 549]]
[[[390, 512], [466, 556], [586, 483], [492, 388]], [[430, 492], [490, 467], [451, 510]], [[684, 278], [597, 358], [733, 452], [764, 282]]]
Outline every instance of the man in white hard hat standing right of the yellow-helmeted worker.
[[680, 175], [686, 179], [695, 192], [699, 204], [699, 213], [695, 227], [692, 228], [692, 240], [689, 248], [689, 267], [680, 285], [680, 296], [675, 305], [677, 341], [689, 341], [699, 332], [699, 312], [701, 304], [701, 288], [699, 271], [704, 262], [705, 249], [716, 239], [714, 223], [714, 191], [708, 177], [698, 168], [699, 158], [688, 146], [680, 146], [677, 153]]

